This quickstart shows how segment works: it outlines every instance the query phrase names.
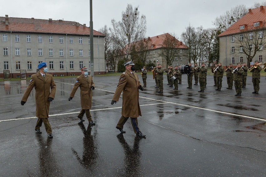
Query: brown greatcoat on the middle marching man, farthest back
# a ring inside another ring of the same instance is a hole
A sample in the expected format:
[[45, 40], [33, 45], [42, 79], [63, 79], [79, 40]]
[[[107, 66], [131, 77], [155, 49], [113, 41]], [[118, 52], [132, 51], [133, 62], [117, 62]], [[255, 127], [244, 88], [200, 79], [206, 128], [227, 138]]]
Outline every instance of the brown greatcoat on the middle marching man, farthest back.
[[81, 100], [81, 109], [91, 109], [91, 103], [92, 103], [92, 90], [91, 86], [94, 86], [94, 83], [92, 81], [92, 77], [87, 75], [88, 79], [84, 76], [84, 74], [81, 74], [76, 78], [76, 83], [70, 93], [70, 97], [75, 96], [75, 93], [80, 87], [80, 100]]

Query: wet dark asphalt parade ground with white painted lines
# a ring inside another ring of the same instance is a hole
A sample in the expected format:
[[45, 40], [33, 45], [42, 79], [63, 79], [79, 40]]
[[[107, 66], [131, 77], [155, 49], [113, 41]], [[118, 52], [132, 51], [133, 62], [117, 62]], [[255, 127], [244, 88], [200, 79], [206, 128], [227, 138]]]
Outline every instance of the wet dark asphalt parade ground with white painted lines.
[[[141, 77], [139, 76], [140, 80]], [[0, 176], [266, 176], [266, 81], [252, 94], [251, 76], [242, 96], [215, 91], [213, 76], [207, 88], [187, 89], [182, 76], [178, 91], [167, 85], [157, 93], [151, 75], [140, 91], [136, 137], [128, 120], [125, 134], [116, 124], [122, 95], [111, 105], [119, 76], [95, 76], [91, 108], [95, 126], [79, 122], [79, 89], [68, 101], [75, 78], [56, 78], [50, 105], [53, 138], [34, 130], [35, 91], [20, 105], [29, 81], [0, 82]], [[141, 80], [142, 82], [142, 80]], [[194, 84], [194, 80], [193, 80]]]

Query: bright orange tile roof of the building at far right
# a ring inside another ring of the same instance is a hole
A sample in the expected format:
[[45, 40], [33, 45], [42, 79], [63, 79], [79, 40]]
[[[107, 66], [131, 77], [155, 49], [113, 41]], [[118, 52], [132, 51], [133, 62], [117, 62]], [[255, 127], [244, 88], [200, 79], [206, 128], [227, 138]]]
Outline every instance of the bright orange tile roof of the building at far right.
[[[240, 18], [237, 22], [235, 22], [231, 27], [227, 28], [219, 37], [241, 33], [243, 31], [252, 30], [254, 28], [254, 23], [260, 22], [259, 27], [264, 26], [264, 22], [266, 22], [266, 6], [261, 6], [255, 9], [249, 9], [249, 12]], [[240, 30], [239, 26], [245, 25], [245, 28]]]

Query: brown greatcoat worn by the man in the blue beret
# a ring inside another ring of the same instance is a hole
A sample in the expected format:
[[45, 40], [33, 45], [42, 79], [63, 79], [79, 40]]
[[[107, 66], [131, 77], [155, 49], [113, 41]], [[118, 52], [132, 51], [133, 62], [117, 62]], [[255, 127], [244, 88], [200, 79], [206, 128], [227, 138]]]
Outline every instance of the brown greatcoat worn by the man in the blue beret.
[[[33, 74], [22, 101], [27, 101], [33, 87], [35, 88], [36, 117], [48, 118], [50, 102], [48, 97], [55, 98], [56, 85], [51, 74], [45, 73], [45, 80], [40, 72]], [[50, 92], [51, 87], [51, 92]]]

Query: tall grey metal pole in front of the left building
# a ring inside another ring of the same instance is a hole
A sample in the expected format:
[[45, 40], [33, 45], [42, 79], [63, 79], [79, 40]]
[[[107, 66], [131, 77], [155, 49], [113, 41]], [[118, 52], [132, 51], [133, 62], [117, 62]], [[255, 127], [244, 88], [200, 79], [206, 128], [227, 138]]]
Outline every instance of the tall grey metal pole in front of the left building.
[[92, 0], [90, 0], [90, 50], [91, 50], [91, 77], [92, 80], [94, 80]]

